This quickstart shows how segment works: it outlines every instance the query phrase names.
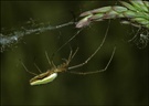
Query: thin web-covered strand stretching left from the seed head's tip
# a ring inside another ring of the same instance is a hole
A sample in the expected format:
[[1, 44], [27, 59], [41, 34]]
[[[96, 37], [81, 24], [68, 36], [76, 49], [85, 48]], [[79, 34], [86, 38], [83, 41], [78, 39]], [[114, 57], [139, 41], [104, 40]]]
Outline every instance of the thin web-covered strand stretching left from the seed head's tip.
[[18, 43], [18, 41], [22, 39], [24, 35], [29, 35], [33, 33], [42, 33], [49, 30], [56, 30], [56, 29], [61, 29], [71, 24], [75, 24], [75, 22], [67, 22], [64, 24], [55, 25], [55, 26], [47, 25], [47, 26], [41, 26], [36, 29], [29, 29], [29, 30], [25, 29], [23, 31], [14, 31], [8, 35], [0, 33], [0, 45], [1, 45], [0, 52], [3, 52], [7, 46]]

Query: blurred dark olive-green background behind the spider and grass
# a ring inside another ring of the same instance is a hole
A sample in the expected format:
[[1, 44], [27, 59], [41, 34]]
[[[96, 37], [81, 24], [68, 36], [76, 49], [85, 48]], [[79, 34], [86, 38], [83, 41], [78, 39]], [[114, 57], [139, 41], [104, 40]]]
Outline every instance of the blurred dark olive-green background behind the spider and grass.
[[[35, 24], [58, 25], [78, 18], [79, 13], [116, 2], [105, 1], [1, 1], [1, 29], [15, 31]], [[78, 53], [70, 66], [84, 62], [100, 44], [108, 22], [96, 22], [85, 28], [79, 35], [61, 51], [53, 61], [62, 64], [67, 59], [70, 45]], [[28, 28], [26, 28], [28, 29]], [[113, 47], [117, 51], [108, 70], [86, 76], [60, 73], [46, 85], [30, 86], [33, 75], [25, 72], [20, 60], [34, 73], [34, 63], [45, 72], [50, 68], [44, 52], [52, 55], [78, 29], [68, 25], [62, 29], [25, 35], [19, 43], [1, 53], [1, 105], [147, 105], [148, 104], [148, 51], [127, 43], [134, 29], [110, 22], [108, 36], [102, 50], [85, 66], [74, 71], [87, 72], [104, 68]]]

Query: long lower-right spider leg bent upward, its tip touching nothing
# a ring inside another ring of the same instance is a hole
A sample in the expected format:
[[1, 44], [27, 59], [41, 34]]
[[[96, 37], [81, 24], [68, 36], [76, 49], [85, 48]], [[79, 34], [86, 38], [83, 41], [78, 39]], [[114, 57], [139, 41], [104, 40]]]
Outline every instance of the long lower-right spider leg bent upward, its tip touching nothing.
[[110, 62], [111, 62], [111, 60], [113, 60], [113, 57], [114, 57], [115, 51], [116, 51], [116, 46], [115, 46], [114, 50], [113, 50], [111, 56], [110, 56], [110, 59], [109, 59], [107, 65], [106, 65], [105, 68], [103, 68], [103, 70], [98, 70], [98, 71], [94, 71], [94, 72], [72, 72], [72, 71], [67, 71], [67, 72], [68, 72], [68, 73], [72, 73], [72, 74], [78, 74], [78, 75], [96, 74], [96, 73], [104, 72], [104, 71], [106, 71], [106, 70], [108, 68], [108, 66], [109, 66], [109, 64], [110, 64]]

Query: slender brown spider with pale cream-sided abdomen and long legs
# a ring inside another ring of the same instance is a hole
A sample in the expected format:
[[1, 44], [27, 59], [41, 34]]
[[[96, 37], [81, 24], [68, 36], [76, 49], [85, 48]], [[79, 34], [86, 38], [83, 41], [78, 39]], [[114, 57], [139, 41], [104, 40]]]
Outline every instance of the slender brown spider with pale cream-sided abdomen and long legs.
[[[41, 85], [41, 84], [46, 84], [46, 83], [50, 83], [52, 82], [56, 76], [57, 76], [57, 73], [60, 72], [68, 72], [68, 73], [73, 73], [73, 74], [79, 74], [79, 75], [86, 75], [86, 74], [95, 74], [95, 73], [99, 73], [99, 72], [104, 72], [107, 70], [107, 67], [109, 66], [113, 57], [114, 57], [114, 54], [115, 54], [115, 51], [116, 51], [116, 46], [114, 47], [113, 50], [113, 53], [111, 53], [111, 56], [107, 63], [107, 65], [105, 66], [105, 68], [103, 70], [98, 70], [98, 71], [94, 71], [94, 72], [72, 72], [70, 70], [74, 70], [74, 68], [77, 68], [77, 67], [81, 67], [85, 64], [88, 63], [88, 61], [100, 50], [100, 47], [103, 46], [105, 40], [106, 40], [106, 36], [107, 36], [107, 33], [108, 33], [108, 29], [109, 29], [109, 25], [107, 28], [107, 31], [105, 33], [105, 36], [102, 41], [102, 43], [99, 44], [99, 46], [95, 50], [95, 52], [83, 63], [81, 64], [77, 64], [77, 65], [74, 65], [74, 66], [68, 66], [71, 61], [73, 60], [73, 57], [75, 56], [75, 54], [77, 53], [78, 51], [78, 47], [75, 50], [75, 52], [73, 53], [73, 51], [71, 51], [70, 53], [70, 56], [68, 59], [63, 59], [65, 62], [62, 63], [61, 65], [55, 65], [53, 62], [50, 61], [50, 57], [47, 55], [47, 53], [45, 52], [45, 56], [49, 61], [49, 64], [52, 66], [51, 70], [47, 70], [46, 72], [44, 73], [41, 73], [39, 75], [28, 71], [28, 68], [25, 67], [25, 65], [22, 63], [23, 67], [25, 68], [26, 72], [31, 73], [31, 74], [34, 74], [35, 76], [33, 78], [30, 80], [30, 85]], [[73, 36], [74, 38], [74, 36]], [[63, 45], [62, 45], [63, 46]], [[35, 65], [35, 64], [34, 64]], [[36, 65], [35, 65], [36, 66]], [[36, 68], [40, 71], [40, 68], [36, 66]], [[41, 71], [40, 71], [41, 72]]]

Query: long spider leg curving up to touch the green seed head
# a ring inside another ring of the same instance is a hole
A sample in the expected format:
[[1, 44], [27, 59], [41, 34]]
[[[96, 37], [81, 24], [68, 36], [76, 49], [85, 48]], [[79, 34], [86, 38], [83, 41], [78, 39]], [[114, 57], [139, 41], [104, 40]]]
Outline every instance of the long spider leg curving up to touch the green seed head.
[[[109, 23], [110, 23], [110, 21], [109, 21]], [[95, 51], [84, 63], [81, 63], [81, 64], [77, 64], [77, 65], [74, 65], [74, 66], [70, 66], [67, 70], [73, 70], [73, 68], [81, 67], [81, 66], [87, 64], [88, 61], [89, 61], [89, 60], [100, 50], [100, 47], [103, 46], [103, 44], [104, 44], [104, 42], [105, 42], [105, 40], [106, 40], [106, 38], [107, 38], [108, 30], [109, 30], [109, 24], [108, 24], [108, 26], [107, 26], [107, 30], [106, 30], [106, 33], [105, 33], [105, 36], [104, 36], [102, 43], [100, 43], [99, 46], [96, 49], [96, 51]]]

